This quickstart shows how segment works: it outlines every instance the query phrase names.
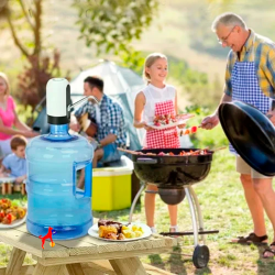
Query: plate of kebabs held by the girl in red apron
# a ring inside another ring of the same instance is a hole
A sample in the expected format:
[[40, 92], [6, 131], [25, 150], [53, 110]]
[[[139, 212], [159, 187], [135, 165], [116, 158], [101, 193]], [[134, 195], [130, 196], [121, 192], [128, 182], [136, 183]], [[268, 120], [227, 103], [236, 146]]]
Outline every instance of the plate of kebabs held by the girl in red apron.
[[155, 129], [155, 130], [163, 130], [173, 127], [178, 127], [180, 124], [186, 124], [186, 122], [195, 117], [191, 113], [183, 113], [183, 114], [160, 114], [155, 116], [152, 122], [147, 122], [147, 125]]

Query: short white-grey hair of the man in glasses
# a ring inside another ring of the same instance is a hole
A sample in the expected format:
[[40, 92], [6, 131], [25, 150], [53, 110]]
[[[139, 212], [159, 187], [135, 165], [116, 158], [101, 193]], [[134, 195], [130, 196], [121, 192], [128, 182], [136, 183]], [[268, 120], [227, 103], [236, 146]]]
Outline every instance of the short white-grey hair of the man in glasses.
[[223, 24], [226, 26], [232, 26], [232, 28], [235, 25], [239, 25], [243, 29], [246, 29], [246, 24], [243, 21], [243, 19], [233, 12], [226, 12], [217, 16], [212, 23], [211, 30], [216, 32], [219, 24]]

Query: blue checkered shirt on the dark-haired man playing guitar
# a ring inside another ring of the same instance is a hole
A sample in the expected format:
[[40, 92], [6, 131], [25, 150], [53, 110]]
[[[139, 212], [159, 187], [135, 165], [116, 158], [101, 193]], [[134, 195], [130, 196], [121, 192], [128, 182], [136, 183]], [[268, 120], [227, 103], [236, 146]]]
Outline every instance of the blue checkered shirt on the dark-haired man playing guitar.
[[[127, 131], [123, 111], [121, 106], [113, 101], [110, 97], [103, 95], [99, 102], [100, 109], [100, 124], [98, 124], [98, 132], [95, 136], [96, 140], [101, 141], [109, 134], [117, 136], [116, 144], [119, 147], [124, 147], [127, 144]], [[96, 107], [92, 102], [87, 101], [78, 110], [75, 116], [78, 118], [88, 112], [90, 118], [96, 120]]]

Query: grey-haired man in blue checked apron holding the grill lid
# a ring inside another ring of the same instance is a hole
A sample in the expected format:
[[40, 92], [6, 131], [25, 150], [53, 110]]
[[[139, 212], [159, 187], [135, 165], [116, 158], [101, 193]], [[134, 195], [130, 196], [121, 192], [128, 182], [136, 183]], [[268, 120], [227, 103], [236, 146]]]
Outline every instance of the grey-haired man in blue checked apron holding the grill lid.
[[[234, 13], [223, 13], [212, 23], [219, 43], [231, 51], [228, 55], [226, 85], [221, 102], [240, 100], [253, 105], [263, 113], [274, 114], [271, 98], [275, 98], [275, 44], [248, 29], [245, 22]], [[275, 116], [272, 117], [273, 123]], [[219, 123], [218, 109], [205, 118], [202, 128], [212, 129]], [[245, 125], [244, 125], [245, 127]], [[230, 145], [237, 157], [237, 172], [241, 174], [244, 196], [253, 219], [254, 231], [248, 237], [233, 240], [238, 243], [266, 243], [264, 210], [274, 230], [271, 246], [264, 257], [275, 255], [275, 193], [272, 178], [253, 170]]]

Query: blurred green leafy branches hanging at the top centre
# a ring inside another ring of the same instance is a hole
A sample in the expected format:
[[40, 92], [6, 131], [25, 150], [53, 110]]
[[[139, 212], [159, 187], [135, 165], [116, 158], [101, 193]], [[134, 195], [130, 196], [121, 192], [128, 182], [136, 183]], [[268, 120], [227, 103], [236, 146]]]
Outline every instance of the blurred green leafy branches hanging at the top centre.
[[[97, 54], [133, 53], [129, 47], [150, 26], [158, 10], [157, 0], [75, 0], [78, 9], [80, 38], [87, 46], [95, 45]], [[138, 54], [139, 55], [139, 54]]]

